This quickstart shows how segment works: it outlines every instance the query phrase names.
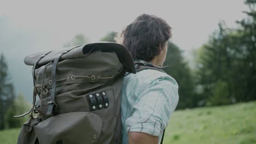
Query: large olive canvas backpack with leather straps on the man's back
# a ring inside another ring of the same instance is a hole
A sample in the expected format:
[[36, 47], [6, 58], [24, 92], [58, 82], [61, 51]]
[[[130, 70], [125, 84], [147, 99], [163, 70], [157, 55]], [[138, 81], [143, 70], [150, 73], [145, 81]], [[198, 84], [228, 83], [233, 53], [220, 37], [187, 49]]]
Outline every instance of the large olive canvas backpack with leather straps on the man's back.
[[30, 114], [19, 144], [121, 143], [123, 77], [136, 73], [123, 45], [73, 46], [34, 53], [24, 62], [33, 65], [34, 90], [32, 109], [15, 116]]

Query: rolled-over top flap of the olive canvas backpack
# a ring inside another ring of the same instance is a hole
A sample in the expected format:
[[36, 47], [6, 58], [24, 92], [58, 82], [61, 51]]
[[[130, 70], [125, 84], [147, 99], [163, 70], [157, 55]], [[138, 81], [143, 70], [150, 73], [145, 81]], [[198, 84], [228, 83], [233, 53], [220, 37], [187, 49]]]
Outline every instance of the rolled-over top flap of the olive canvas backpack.
[[133, 58], [130, 52], [126, 49], [126, 47], [121, 44], [110, 43], [110, 42], [90, 43], [86, 45], [78, 45], [73, 47], [62, 48], [59, 50], [51, 51], [50, 53], [48, 53], [48, 55], [46, 55], [42, 59], [40, 59], [40, 57], [44, 56], [44, 54], [47, 52], [38, 52], [25, 57], [24, 62], [27, 65], [34, 65], [38, 61], [38, 59], [40, 59], [40, 61], [37, 64], [37, 66], [40, 67], [49, 62], [53, 62], [55, 58], [60, 56], [60, 53], [63, 53], [66, 51], [69, 51], [69, 52], [63, 55], [60, 61], [64, 59], [84, 57], [84, 56], [87, 56], [88, 53], [95, 50], [100, 50], [101, 52], [115, 52], [118, 56], [120, 63], [122, 63], [125, 66], [127, 72], [136, 73]]

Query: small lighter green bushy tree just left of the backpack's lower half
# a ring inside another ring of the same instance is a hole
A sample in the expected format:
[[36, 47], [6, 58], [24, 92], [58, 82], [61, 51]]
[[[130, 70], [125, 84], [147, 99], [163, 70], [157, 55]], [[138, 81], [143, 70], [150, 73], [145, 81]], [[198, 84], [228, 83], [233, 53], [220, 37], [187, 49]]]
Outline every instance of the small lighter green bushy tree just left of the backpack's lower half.
[[22, 124], [27, 121], [27, 117], [14, 118], [14, 116], [25, 113], [30, 107], [31, 106], [25, 100], [24, 95], [19, 94], [18, 97], [15, 98], [13, 105], [11, 105], [5, 113], [5, 128], [21, 127]]

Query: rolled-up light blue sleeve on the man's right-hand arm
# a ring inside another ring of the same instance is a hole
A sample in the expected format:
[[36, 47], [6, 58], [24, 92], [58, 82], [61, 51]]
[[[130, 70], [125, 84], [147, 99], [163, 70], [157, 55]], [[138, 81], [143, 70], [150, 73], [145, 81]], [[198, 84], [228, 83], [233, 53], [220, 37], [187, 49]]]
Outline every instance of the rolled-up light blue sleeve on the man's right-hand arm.
[[132, 116], [125, 121], [127, 133], [136, 131], [160, 136], [177, 103], [178, 85], [172, 77], [162, 76], [152, 80], [131, 108]]

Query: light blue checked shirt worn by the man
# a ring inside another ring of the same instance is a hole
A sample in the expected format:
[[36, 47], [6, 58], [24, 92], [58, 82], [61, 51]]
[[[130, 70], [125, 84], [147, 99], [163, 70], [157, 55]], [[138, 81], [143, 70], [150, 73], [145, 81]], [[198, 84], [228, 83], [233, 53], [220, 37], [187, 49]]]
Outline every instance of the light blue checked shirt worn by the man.
[[159, 136], [160, 143], [178, 99], [177, 82], [161, 71], [126, 75], [121, 93], [123, 143], [128, 143], [128, 131]]

